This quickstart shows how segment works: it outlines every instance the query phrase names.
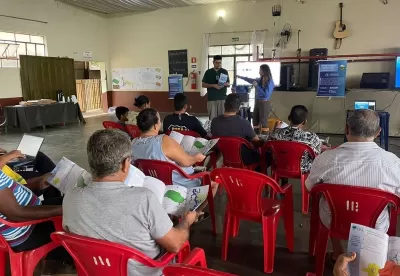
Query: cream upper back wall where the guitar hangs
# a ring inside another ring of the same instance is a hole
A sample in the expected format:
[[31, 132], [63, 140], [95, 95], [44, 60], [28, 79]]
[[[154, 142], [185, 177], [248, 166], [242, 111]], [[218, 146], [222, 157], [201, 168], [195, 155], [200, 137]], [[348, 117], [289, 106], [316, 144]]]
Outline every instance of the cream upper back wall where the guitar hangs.
[[[400, 1], [383, 5], [380, 0], [282, 0], [281, 27], [292, 25], [294, 35], [281, 56], [294, 56], [297, 30], [301, 29], [302, 54], [310, 48], [324, 47], [329, 54], [361, 54], [397, 52], [400, 47]], [[339, 2], [344, 2], [344, 20], [351, 36], [334, 50], [332, 33], [339, 18]], [[109, 47], [112, 68], [160, 66], [164, 73], [163, 90], [167, 90], [168, 50], [188, 49], [189, 58], [201, 58], [203, 33], [268, 29], [265, 48], [272, 47], [273, 20], [271, 7], [278, 0], [230, 2], [186, 8], [164, 9], [144, 14], [120, 15], [109, 20]], [[226, 11], [224, 19], [216, 12]], [[277, 30], [278, 32], [278, 30]], [[232, 44], [238, 35], [212, 35], [215, 45]], [[250, 34], [241, 34], [240, 42], [248, 42]], [[308, 67], [303, 67], [307, 75]], [[349, 65], [350, 86], [359, 84], [362, 72], [389, 71], [392, 62], [352, 63]], [[306, 84], [306, 76], [303, 78]]]

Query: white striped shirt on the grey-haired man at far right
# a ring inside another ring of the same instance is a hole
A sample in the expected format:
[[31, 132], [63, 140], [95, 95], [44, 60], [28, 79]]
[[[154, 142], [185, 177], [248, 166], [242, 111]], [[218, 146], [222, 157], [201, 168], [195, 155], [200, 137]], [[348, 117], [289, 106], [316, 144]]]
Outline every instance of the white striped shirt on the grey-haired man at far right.
[[[347, 142], [317, 156], [312, 164], [306, 187], [318, 183], [343, 184], [381, 189], [400, 195], [400, 159], [374, 142]], [[320, 202], [320, 218], [325, 226], [331, 222], [328, 203]], [[389, 213], [383, 211], [376, 229], [387, 231]]]

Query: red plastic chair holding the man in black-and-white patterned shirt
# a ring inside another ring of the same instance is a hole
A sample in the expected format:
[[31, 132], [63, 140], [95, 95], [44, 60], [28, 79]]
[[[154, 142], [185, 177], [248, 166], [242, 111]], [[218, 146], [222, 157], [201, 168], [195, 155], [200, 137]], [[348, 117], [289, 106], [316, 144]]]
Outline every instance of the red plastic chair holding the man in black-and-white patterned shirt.
[[295, 178], [301, 180], [301, 212], [308, 213], [310, 194], [306, 188], [306, 179], [309, 173], [301, 171], [301, 159], [304, 152], [315, 158], [312, 148], [306, 144], [292, 141], [268, 141], [262, 148], [261, 167], [267, 171], [266, 154], [270, 151], [273, 156], [271, 164], [272, 178], [279, 183], [281, 178]]

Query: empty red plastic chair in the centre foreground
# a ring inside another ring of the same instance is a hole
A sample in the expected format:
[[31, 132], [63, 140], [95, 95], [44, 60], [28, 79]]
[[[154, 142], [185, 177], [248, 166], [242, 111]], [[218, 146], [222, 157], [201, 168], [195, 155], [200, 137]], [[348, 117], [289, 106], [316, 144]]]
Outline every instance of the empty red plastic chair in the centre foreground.
[[[274, 270], [275, 239], [279, 218], [283, 216], [286, 242], [289, 251], [294, 249], [293, 191], [292, 185], [278, 185], [272, 178], [249, 170], [220, 168], [211, 172], [211, 178], [218, 177], [228, 194], [225, 210], [222, 259], [228, 255], [229, 237], [239, 234], [240, 220], [261, 222], [264, 239], [264, 272]], [[284, 194], [283, 200], [262, 196], [268, 187]]]

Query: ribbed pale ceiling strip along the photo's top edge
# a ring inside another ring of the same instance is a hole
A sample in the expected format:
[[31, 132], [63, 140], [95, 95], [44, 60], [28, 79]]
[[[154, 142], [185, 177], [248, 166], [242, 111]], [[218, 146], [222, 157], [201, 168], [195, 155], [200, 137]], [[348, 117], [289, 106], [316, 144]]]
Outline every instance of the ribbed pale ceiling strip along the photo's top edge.
[[92, 11], [111, 14], [213, 4], [235, 0], [56, 0]]

